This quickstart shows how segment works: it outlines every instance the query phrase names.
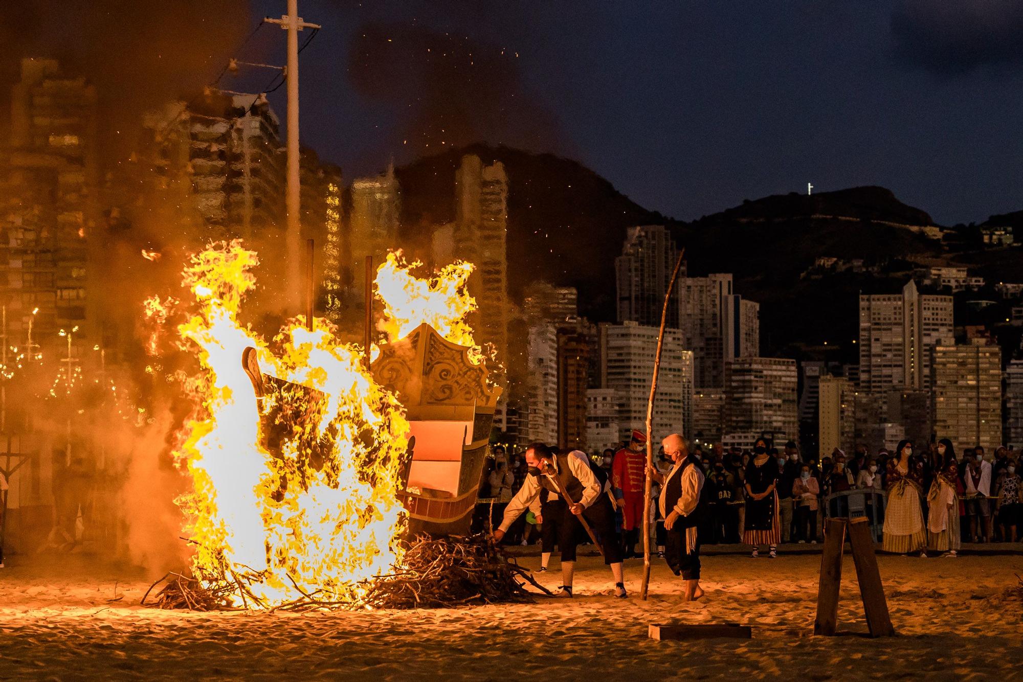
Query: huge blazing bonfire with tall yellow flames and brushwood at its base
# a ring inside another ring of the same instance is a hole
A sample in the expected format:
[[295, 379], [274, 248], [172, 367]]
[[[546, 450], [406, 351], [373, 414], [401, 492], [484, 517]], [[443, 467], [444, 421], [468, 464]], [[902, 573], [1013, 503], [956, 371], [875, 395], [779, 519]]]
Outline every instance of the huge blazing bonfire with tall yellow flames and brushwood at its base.
[[[271, 342], [242, 325], [257, 265], [240, 241], [214, 244], [184, 269], [190, 300], [146, 302], [157, 321], [187, 311], [177, 343], [197, 353], [201, 368], [185, 382], [194, 412], [176, 452], [191, 482], [178, 504], [194, 554], [190, 571], [158, 581], [166, 585], [154, 602], [275, 609], [528, 598], [516, 580], [524, 572], [487, 539], [402, 541], [403, 406], [366, 369], [365, 349], [342, 343], [325, 320], [299, 317]], [[380, 330], [397, 340], [428, 323], [482, 362], [465, 322], [476, 306], [465, 289], [473, 266], [428, 278], [412, 274], [418, 266], [397, 254], [381, 266]], [[260, 377], [285, 390], [261, 395]], [[267, 415], [281, 413], [302, 418], [278, 424], [271, 447]]]

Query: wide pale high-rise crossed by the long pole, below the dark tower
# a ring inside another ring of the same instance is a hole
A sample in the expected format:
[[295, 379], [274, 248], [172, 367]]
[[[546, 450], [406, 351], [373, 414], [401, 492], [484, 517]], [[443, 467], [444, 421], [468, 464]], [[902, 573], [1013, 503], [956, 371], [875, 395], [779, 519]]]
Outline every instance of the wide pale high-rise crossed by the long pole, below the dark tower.
[[[643, 428], [650, 381], [657, 355], [658, 327], [635, 322], [604, 325], [601, 332], [604, 353], [602, 375], [606, 389], [618, 392], [619, 440], [628, 440], [633, 428]], [[665, 329], [658, 375], [657, 398], [654, 401], [653, 428], [655, 438], [678, 431], [684, 423], [683, 359], [681, 334], [677, 329]]]

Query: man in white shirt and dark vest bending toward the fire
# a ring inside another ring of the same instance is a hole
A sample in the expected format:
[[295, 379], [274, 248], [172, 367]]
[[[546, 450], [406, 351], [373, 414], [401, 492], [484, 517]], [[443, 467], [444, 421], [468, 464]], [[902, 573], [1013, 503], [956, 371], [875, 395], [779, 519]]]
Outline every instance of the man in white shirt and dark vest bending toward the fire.
[[601, 482], [589, 468], [586, 454], [575, 450], [567, 455], [554, 455], [543, 443], [532, 443], [526, 447], [526, 464], [529, 475], [504, 508], [504, 518], [494, 531], [494, 541], [501, 541], [516, 518], [534, 505], [540, 490], [546, 488], [553, 495], [568, 498], [558, 542], [562, 550], [562, 590], [559, 596], [572, 596], [576, 546], [580, 532], [585, 530], [594, 543], [599, 543], [597, 546], [604, 554], [604, 562], [611, 566], [615, 595], [625, 597], [622, 550], [615, 539], [615, 513], [611, 499], [604, 494]]

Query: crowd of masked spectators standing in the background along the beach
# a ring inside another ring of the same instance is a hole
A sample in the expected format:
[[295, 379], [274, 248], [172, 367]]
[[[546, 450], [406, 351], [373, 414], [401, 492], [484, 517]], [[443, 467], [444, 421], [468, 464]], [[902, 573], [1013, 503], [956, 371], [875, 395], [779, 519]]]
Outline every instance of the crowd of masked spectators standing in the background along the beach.
[[[948, 444], [947, 447], [942, 443]], [[773, 490], [776, 491], [777, 541], [782, 543], [818, 542], [825, 517], [849, 515], [850, 499], [859, 505], [852, 510], [853, 514], [862, 513], [880, 528], [885, 517], [889, 488], [903, 478], [914, 482], [909, 499], [913, 504], [919, 504], [926, 525], [930, 507], [934, 505], [934, 491], [938, 489], [936, 483], [939, 476], [954, 487], [955, 501], [952, 506], [958, 508], [950, 513], [957, 514], [952, 520], [959, 522], [949, 528], [958, 532], [959, 541], [1020, 541], [1023, 481], [1019, 466], [1023, 455], [1017, 451], [998, 447], [988, 454], [982, 446], [971, 446], [962, 448], [957, 456], [948, 441], [930, 443], [916, 450], [913, 444], [908, 444], [906, 452], [911, 454], [907, 454], [907, 464], [903, 465], [908, 470], [903, 472], [902, 469], [896, 470], [898, 453], [884, 448], [872, 453], [866, 446], [857, 445], [850, 453], [836, 449], [820, 458], [804, 458], [792, 441], [782, 449], [769, 442], [766, 446], [768, 461], [773, 462], [767, 475], [773, 479]], [[589, 454], [591, 466], [602, 474], [602, 480], [612, 480], [615, 454], [616, 450], [611, 448]], [[509, 456], [504, 448], [497, 446], [493, 455], [480, 490], [480, 498], [489, 514], [477, 514], [478, 528], [486, 515], [490, 515], [494, 526], [500, 521], [504, 506], [527, 475], [521, 453]], [[706, 449], [694, 446], [691, 455], [706, 475], [705, 495], [709, 501], [709, 513], [700, 529], [701, 543], [743, 542], [746, 512], [756, 495], [747, 483], [751, 472], [756, 474], [758, 483], [764, 478], [760, 470], [763, 467], [756, 469], [753, 462], [756, 457], [762, 462], [763, 454], [714, 445]], [[670, 461], [663, 452], [656, 452], [654, 458], [655, 465], [662, 471], [670, 468]], [[901, 492], [902, 489], [899, 490]], [[864, 495], [847, 491], [861, 491]], [[658, 491], [654, 493], [656, 498]], [[527, 516], [521, 518], [505, 542], [535, 542], [539, 534], [531, 528], [530, 520]], [[658, 528], [659, 519], [653, 520], [652, 527]], [[746, 537], [750, 536], [747, 534]], [[954, 542], [953, 547], [958, 546], [959, 542]], [[954, 549], [949, 553], [954, 555]]]

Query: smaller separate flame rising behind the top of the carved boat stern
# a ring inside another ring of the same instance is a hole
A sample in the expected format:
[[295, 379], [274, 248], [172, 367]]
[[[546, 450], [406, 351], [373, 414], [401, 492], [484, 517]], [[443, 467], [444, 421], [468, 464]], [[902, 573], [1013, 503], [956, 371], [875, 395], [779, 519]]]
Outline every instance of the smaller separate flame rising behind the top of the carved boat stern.
[[426, 322], [447, 340], [468, 346], [473, 362], [481, 362], [483, 352], [465, 321], [477, 308], [476, 300], [466, 291], [473, 264], [459, 261], [426, 279], [412, 274], [421, 266], [418, 261], [405, 263], [401, 252], [388, 254], [376, 270], [376, 295], [384, 302], [384, 317], [377, 329], [393, 343]]

